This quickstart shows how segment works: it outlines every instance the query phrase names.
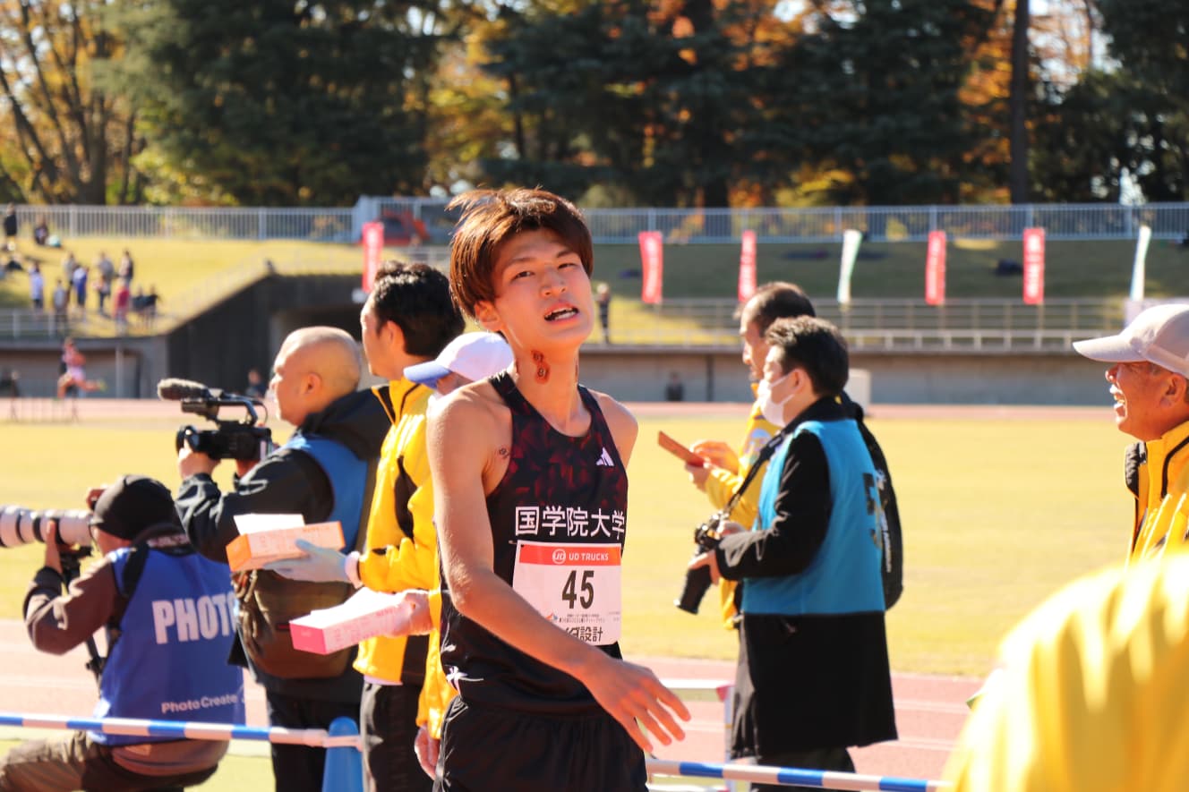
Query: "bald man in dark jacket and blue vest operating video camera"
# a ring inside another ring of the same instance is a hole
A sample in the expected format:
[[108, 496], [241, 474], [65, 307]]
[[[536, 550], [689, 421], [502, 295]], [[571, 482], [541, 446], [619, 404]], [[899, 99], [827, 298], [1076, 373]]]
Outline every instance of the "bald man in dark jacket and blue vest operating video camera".
[[[375, 470], [390, 423], [371, 392], [356, 390], [361, 365], [358, 344], [341, 329], [290, 333], [277, 352], [271, 389], [281, 420], [296, 432], [254, 466], [238, 463], [232, 491], [220, 492], [210, 478], [219, 460], [182, 447], [177, 510], [200, 553], [226, 562], [227, 543], [239, 535], [235, 517], [244, 514], [339, 521], [346, 548], [356, 547], [371, 502], [369, 466]], [[335, 717], [358, 717], [363, 677], [351, 667], [354, 649], [297, 652], [288, 630], [290, 618], [342, 602], [351, 585], [285, 580], [263, 570], [235, 578], [239, 642], [232, 661], [247, 665], [264, 686], [270, 724], [326, 729]], [[320, 748], [273, 744], [276, 788], [321, 790], [325, 759]]]

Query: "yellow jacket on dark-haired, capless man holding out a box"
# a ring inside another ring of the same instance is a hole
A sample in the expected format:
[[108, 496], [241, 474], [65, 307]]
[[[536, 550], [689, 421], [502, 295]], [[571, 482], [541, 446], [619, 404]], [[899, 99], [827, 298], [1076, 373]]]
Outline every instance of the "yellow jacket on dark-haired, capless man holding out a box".
[[[366, 545], [359, 558], [359, 577], [376, 591], [435, 585], [438, 535], [426, 454], [426, 407], [432, 392], [424, 385], [397, 379], [389, 385], [391, 404], [380, 397], [392, 428], [380, 450]], [[364, 641], [359, 645], [356, 670], [367, 677], [401, 681], [402, 672], [407, 671], [405, 643], [403, 637], [386, 636]], [[417, 677], [422, 672], [420, 667], [408, 671]]]

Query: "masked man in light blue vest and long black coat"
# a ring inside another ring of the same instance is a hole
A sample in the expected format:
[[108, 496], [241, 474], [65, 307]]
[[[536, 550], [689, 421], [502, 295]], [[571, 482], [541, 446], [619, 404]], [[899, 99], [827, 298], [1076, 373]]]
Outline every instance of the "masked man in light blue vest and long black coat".
[[731, 758], [853, 773], [848, 747], [897, 736], [876, 466], [838, 401], [849, 356], [837, 328], [780, 319], [765, 341], [760, 410], [784, 428], [759, 516], [751, 530], [728, 523], [690, 566], [746, 582]]

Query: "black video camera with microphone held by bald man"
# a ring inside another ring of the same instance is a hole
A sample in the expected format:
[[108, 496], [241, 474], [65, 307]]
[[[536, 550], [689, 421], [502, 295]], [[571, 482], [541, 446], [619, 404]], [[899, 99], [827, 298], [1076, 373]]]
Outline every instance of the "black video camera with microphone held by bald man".
[[[175, 451], [184, 442], [190, 451], [203, 453], [212, 459], [243, 459], [258, 461], [272, 451], [272, 430], [263, 426], [256, 408], [264, 402], [251, 396], [233, 394], [216, 388], [207, 388], [190, 379], [162, 379], [157, 383], [159, 398], [182, 402], [183, 413], [195, 413], [214, 421], [214, 429], [197, 429], [183, 426], [177, 430]], [[241, 408], [245, 413], [239, 421], [219, 420], [222, 407]], [[266, 415], [266, 414], [265, 414]]]

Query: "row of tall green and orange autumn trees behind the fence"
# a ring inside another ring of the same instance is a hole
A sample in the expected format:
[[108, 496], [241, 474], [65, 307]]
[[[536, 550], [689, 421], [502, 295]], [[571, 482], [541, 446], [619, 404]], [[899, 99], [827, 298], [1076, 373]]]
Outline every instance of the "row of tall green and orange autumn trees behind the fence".
[[1027, 11], [2, 0], [0, 200], [898, 205], [1116, 200], [1125, 178], [1184, 200], [1184, 4]]

